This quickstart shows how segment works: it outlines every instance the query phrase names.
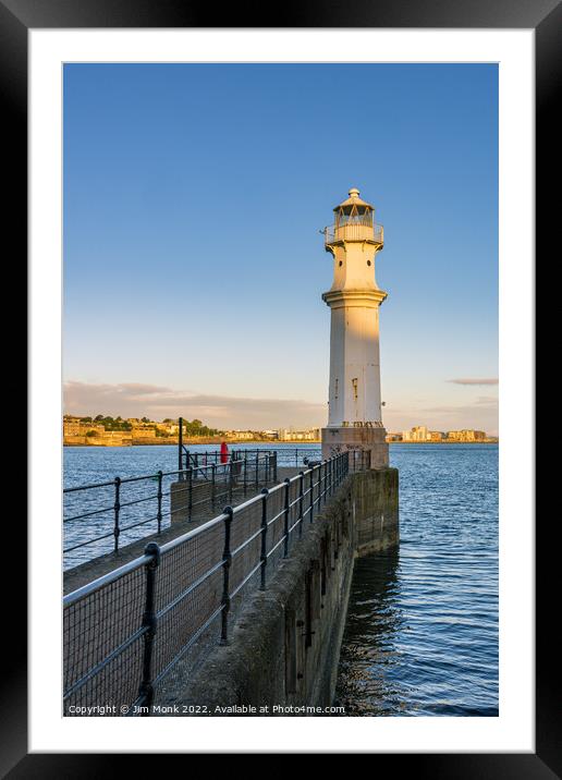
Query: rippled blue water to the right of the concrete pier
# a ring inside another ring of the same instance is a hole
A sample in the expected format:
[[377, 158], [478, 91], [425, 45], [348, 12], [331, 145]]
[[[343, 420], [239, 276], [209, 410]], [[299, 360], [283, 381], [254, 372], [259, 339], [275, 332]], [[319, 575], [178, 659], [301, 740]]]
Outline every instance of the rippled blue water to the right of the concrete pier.
[[498, 448], [391, 458], [401, 546], [355, 564], [337, 702], [351, 716], [497, 716]]

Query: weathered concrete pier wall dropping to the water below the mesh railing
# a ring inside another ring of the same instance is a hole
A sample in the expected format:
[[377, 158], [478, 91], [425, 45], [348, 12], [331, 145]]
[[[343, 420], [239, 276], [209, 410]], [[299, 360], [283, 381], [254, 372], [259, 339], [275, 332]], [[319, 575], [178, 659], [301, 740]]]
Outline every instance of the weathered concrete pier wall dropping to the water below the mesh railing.
[[229, 645], [215, 647], [170, 704], [197, 716], [306, 715], [300, 708], [329, 706], [354, 561], [398, 544], [398, 470], [350, 475], [267, 589], [247, 597]]

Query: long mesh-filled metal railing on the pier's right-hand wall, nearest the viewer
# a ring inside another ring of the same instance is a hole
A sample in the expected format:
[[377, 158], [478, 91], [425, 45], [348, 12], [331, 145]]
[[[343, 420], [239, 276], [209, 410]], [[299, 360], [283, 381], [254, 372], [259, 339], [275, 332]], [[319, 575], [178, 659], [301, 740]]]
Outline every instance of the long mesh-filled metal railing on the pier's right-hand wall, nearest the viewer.
[[[280, 561], [350, 473], [349, 453], [301, 472], [63, 600], [65, 715], [150, 715], [188, 649]], [[98, 708], [102, 705], [102, 710]]]

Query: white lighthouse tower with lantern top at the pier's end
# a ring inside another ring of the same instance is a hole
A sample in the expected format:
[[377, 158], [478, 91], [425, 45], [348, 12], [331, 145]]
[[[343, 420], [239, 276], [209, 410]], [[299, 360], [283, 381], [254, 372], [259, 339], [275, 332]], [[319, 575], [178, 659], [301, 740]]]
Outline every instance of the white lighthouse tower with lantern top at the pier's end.
[[370, 452], [370, 467], [389, 464], [380, 399], [379, 306], [387, 297], [375, 280], [375, 257], [383, 246], [375, 209], [350, 190], [325, 230], [333, 257], [333, 284], [322, 295], [331, 309], [328, 427], [322, 458], [338, 452]]

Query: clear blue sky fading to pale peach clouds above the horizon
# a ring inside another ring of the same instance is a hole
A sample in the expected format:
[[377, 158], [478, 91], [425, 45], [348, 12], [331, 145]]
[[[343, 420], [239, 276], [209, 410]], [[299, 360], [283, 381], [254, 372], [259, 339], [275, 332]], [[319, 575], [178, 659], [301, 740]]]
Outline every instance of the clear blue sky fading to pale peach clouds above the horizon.
[[66, 65], [65, 410], [322, 425], [351, 186], [384, 226], [387, 428], [496, 432], [486, 64]]

